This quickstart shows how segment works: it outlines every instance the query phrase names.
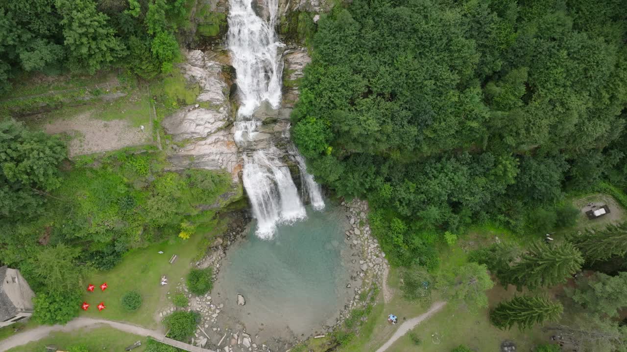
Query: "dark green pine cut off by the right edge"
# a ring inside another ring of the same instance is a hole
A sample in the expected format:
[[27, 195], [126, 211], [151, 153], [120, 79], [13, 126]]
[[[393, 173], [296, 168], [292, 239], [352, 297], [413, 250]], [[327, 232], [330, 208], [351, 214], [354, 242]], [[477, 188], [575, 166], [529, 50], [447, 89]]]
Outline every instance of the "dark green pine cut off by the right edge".
[[627, 222], [608, 225], [603, 230], [587, 230], [571, 236], [570, 240], [589, 262], [622, 257], [627, 254]]

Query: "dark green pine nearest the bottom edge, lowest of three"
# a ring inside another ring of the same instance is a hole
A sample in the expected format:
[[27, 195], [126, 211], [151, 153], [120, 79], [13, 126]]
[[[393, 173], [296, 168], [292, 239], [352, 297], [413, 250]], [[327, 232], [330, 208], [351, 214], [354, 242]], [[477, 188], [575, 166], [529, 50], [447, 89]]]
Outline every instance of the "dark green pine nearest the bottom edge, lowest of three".
[[499, 303], [490, 312], [490, 321], [499, 329], [510, 329], [517, 324], [524, 330], [544, 321], [556, 321], [562, 311], [564, 307], [559, 302], [537, 296], [519, 296]]

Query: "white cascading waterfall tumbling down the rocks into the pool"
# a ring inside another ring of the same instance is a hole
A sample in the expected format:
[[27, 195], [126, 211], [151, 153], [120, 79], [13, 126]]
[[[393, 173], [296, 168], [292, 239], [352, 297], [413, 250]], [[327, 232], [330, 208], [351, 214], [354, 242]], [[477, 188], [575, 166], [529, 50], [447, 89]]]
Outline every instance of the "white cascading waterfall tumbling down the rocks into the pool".
[[[281, 104], [283, 44], [275, 33], [278, 0], [264, 0], [269, 12], [268, 21], [256, 15], [251, 0], [229, 0], [229, 5], [227, 43], [241, 100], [234, 138], [244, 152], [242, 179], [258, 221], [256, 235], [270, 239], [277, 224], [292, 223], [307, 216], [290, 170], [280, 160], [282, 153], [275, 147], [246, 150], [261, 125], [253, 116], [255, 110], [264, 101], [274, 109], [280, 108]], [[302, 156], [288, 136], [286, 142], [290, 156], [300, 169], [302, 187], [307, 189], [303, 195], [311, 200], [314, 209], [323, 209], [320, 185], [307, 173]]]

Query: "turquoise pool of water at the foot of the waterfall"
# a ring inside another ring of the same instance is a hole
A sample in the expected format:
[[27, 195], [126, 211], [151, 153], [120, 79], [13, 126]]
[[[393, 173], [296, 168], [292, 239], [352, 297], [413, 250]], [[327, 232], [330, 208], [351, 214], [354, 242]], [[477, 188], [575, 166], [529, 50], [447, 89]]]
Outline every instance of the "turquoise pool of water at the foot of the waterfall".
[[[334, 324], [352, 294], [347, 227], [345, 215], [328, 202], [322, 212], [307, 207], [306, 220], [279, 225], [270, 240], [255, 236], [253, 221], [246, 241], [229, 249], [212, 294], [250, 332], [307, 336]], [[237, 294], [245, 306], [237, 306]]]

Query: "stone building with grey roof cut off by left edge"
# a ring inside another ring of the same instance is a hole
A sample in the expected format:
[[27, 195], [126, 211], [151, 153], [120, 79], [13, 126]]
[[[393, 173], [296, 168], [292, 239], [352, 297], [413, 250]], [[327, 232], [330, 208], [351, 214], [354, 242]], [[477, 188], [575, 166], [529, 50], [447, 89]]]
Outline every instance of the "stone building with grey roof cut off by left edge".
[[19, 270], [0, 267], [0, 328], [33, 315], [34, 296]]

